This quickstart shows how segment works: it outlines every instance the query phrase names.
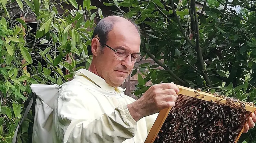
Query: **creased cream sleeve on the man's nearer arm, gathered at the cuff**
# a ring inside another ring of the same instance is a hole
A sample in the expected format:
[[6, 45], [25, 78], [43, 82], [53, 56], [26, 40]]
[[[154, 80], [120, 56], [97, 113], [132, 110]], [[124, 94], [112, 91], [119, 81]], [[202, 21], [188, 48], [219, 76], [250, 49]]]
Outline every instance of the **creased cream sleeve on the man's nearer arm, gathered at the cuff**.
[[[79, 91], [79, 90], [77, 90]], [[120, 105], [111, 114], [94, 117], [94, 106], [88, 96], [74, 90], [62, 92], [57, 101], [56, 116], [62, 124], [64, 143], [121, 143], [134, 137], [137, 122], [132, 118], [126, 105]], [[102, 103], [104, 104], [104, 103]], [[58, 133], [57, 133], [58, 134]], [[60, 133], [61, 134], [61, 133]]]

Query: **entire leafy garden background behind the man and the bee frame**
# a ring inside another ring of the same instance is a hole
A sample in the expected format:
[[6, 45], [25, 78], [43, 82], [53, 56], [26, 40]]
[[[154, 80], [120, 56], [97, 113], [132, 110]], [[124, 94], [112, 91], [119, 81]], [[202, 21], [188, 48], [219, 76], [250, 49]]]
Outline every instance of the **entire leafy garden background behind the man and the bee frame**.
[[[123, 87], [139, 98], [175, 82], [256, 102], [256, 2], [251, 0], [0, 0], [0, 143], [12, 141], [31, 84], [62, 84], [91, 63], [90, 40], [110, 14], [141, 29], [144, 60]], [[32, 111], [18, 142], [29, 142]], [[256, 143], [255, 128], [239, 143]]]

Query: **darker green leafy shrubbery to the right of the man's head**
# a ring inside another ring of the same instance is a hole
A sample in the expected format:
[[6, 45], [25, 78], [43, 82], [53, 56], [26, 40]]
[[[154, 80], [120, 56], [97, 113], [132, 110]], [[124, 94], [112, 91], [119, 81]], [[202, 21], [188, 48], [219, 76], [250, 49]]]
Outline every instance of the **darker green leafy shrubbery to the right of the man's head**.
[[[133, 94], [140, 97], [150, 87], [145, 84], [148, 81], [153, 84], [175, 82], [255, 103], [255, 3], [245, 0], [198, 2], [104, 3], [116, 5], [119, 7], [116, 13], [123, 13], [140, 25], [141, 51], [156, 62], [156, 65], [139, 65], [133, 71], [132, 75], [141, 71]], [[227, 6], [241, 9], [234, 11]], [[254, 135], [255, 129], [242, 134], [240, 143], [255, 142]]]

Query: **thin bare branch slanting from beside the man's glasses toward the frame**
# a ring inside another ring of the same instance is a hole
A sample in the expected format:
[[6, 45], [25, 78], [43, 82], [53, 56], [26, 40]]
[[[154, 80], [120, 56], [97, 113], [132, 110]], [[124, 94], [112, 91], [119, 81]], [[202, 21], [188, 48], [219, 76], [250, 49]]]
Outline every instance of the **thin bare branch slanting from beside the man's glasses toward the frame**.
[[164, 68], [170, 75], [172, 75], [173, 78], [175, 78], [176, 80], [178, 80], [180, 83], [182, 83], [183, 85], [188, 86], [187, 82], [183, 81], [181, 78], [179, 78], [177, 75], [175, 75], [168, 67], [166, 67], [164, 64], [162, 64], [161, 62], [158, 61], [158, 59], [156, 59], [149, 51], [148, 49], [145, 47], [144, 43], [141, 42], [141, 45], [144, 49], [144, 51], [148, 54], [148, 56], [154, 60], [158, 65], [160, 65], [162, 68]]

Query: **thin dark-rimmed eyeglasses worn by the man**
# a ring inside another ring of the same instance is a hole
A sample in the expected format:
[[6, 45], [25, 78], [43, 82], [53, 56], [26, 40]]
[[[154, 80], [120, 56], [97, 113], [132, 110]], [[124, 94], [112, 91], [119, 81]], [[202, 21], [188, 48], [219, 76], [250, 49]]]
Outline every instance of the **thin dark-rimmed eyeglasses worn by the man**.
[[108, 46], [107, 44], [104, 44], [104, 45], [107, 46], [108, 48], [110, 48], [111, 50], [113, 50], [114, 52], [116, 52], [115, 58], [118, 60], [124, 61], [129, 55], [131, 55], [133, 63], [138, 64], [142, 61], [143, 56], [141, 54], [132, 54], [132, 53], [129, 53], [129, 52], [127, 52], [125, 50], [121, 50], [121, 49], [115, 50], [115, 49], [111, 48], [110, 46]]

